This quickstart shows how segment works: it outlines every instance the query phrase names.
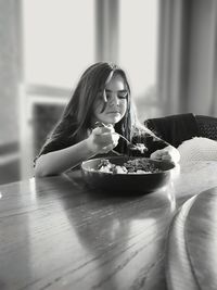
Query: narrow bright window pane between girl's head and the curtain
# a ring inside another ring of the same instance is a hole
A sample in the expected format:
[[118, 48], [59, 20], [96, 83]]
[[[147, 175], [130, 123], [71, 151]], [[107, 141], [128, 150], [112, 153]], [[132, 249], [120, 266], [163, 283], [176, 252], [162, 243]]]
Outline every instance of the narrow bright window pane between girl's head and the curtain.
[[158, 0], [119, 0], [119, 64], [142, 121], [156, 110], [157, 27]]

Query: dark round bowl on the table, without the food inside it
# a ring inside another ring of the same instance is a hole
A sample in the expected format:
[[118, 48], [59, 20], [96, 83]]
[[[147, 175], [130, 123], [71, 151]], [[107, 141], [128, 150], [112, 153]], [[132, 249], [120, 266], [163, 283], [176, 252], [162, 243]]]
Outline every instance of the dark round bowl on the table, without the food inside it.
[[[106, 157], [106, 160], [113, 164], [123, 165], [128, 160], [133, 160], [133, 157], [115, 156]], [[103, 190], [103, 192], [148, 193], [166, 186], [170, 180], [171, 172], [176, 165], [168, 161], [144, 160], [154, 165], [155, 168], [158, 168], [159, 172], [148, 174], [103, 173], [98, 171], [98, 165], [102, 159], [91, 159], [82, 162], [81, 172], [89, 188]]]

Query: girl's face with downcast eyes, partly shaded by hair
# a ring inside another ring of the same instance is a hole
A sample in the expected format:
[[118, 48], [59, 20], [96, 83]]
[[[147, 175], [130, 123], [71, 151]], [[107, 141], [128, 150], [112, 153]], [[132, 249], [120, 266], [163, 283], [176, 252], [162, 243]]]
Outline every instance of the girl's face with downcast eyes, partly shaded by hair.
[[102, 122], [104, 124], [116, 124], [127, 111], [128, 90], [124, 78], [114, 75], [105, 85], [105, 96], [99, 92], [93, 103], [92, 124]]

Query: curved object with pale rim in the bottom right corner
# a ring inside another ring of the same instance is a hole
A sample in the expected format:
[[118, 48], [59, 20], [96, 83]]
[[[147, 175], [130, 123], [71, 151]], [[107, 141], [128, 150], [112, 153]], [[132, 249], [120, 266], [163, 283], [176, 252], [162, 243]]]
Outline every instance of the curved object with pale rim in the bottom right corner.
[[217, 187], [181, 206], [171, 223], [167, 249], [169, 289], [217, 289]]

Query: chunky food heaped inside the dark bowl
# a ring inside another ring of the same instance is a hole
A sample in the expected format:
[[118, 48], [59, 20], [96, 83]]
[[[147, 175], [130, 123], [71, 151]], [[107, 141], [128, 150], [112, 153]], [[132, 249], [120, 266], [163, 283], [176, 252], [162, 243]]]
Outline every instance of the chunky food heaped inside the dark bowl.
[[159, 172], [159, 168], [151, 164], [146, 159], [128, 160], [123, 165], [117, 165], [107, 159], [102, 159], [97, 169], [111, 174], [152, 174]]

